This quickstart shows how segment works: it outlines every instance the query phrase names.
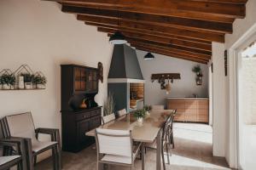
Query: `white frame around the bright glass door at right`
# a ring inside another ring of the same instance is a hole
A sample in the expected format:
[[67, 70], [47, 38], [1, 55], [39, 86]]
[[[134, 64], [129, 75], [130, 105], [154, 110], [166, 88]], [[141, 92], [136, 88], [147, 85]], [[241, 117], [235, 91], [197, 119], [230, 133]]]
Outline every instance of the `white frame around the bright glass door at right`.
[[240, 66], [241, 49], [256, 39], [256, 24], [241, 36], [229, 49], [229, 77], [230, 77], [230, 167], [241, 169], [239, 166], [239, 107], [238, 107], [238, 68]]

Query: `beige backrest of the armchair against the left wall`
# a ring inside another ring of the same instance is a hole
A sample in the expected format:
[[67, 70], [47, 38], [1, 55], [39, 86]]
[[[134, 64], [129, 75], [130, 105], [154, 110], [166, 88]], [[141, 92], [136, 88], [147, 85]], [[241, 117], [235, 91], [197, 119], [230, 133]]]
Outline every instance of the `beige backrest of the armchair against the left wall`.
[[37, 141], [31, 112], [5, 116], [4, 119], [10, 136], [29, 138], [32, 143]]

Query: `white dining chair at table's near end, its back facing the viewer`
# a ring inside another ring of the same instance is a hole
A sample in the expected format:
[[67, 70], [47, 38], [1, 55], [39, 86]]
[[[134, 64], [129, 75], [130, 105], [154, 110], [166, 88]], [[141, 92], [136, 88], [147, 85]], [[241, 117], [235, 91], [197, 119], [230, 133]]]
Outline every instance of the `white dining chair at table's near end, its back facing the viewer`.
[[96, 128], [97, 170], [100, 164], [134, 168], [140, 144], [133, 146], [131, 131]]

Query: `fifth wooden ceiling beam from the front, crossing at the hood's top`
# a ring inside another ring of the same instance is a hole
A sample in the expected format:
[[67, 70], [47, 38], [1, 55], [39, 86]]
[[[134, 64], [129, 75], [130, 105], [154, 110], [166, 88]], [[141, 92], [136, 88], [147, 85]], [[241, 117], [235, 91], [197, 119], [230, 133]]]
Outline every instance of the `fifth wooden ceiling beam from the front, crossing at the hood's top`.
[[[113, 34], [115, 31], [113, 30], [104, 30], [99, 28], [98, 31], [104, 31], [107, 33]], [[130, 38], [137, 38], [137, 39], [143, 39], [146, 41], [152, 41], [152, 42], [161, 42], [161, 43], [166, 43], [166, 44], [172, 44], [172, 45], [177, 45], [181, 47], [188, 47], [188, 48], [195, 48], [195, 49], [200, 49], [203, 51], [212, 51], [212, 45], [208, 44], [201, 44], [201, 43], [196, 43], [196, 42], [186, 42], [183, 40], [177, 40], [177, 39], [172, 39], [169, 37], [157, 37], [157, 36], [148, 36], [144, 35], [142, 33], [134, 33], [134, 32], [129, 32], [129, 31], [122, 31], [122, 33], [125, 35], [125, 37], [130, 37]]]

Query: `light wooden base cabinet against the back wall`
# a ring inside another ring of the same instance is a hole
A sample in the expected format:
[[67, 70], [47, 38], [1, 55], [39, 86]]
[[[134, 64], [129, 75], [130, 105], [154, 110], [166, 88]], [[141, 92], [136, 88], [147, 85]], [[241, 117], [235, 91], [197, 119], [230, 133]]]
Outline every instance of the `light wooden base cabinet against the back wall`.
[[177, 110], [176, 122], [209, 122], [209, 99], [167, 99], [167, 109]]

